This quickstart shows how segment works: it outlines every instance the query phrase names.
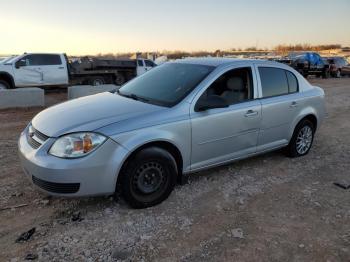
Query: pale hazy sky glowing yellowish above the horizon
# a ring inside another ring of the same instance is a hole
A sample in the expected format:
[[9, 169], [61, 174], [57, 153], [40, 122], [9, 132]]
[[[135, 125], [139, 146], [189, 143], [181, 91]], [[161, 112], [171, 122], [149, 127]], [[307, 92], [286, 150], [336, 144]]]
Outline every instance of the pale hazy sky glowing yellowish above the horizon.
[[0, 0], [0, 54], [350, 46], [350, 0]]

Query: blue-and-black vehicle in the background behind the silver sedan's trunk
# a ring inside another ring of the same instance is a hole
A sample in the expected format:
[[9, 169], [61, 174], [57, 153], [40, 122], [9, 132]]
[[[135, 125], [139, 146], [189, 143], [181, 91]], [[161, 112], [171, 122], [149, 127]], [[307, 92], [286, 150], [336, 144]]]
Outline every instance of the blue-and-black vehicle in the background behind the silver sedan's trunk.
[[318, 53], [305, 52], [291, 58], [291, 66], [304, 77], [315, 75], [329, 78], [330, 66], [327, 60], [323, 60]]

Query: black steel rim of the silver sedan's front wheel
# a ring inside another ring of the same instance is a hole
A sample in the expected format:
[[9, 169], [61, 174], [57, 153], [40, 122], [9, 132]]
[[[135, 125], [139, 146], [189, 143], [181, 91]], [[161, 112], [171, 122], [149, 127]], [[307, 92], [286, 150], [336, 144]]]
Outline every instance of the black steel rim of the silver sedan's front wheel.
[[163, 167], [157, 162], [148, 162], [136, 170], [133, 184], [141, 193], [156, 192], [164, 181]]

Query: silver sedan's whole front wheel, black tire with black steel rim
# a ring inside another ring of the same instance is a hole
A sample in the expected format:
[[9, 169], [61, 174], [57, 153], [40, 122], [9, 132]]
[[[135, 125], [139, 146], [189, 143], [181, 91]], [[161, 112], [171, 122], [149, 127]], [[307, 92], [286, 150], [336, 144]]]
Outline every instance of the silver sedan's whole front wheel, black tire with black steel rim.
[[174, 157], [166, 150], [149, 147], [136, 153], [120, 174], [120, 189], [133, 208], [159, 204], [170, 195], [177, 179]]

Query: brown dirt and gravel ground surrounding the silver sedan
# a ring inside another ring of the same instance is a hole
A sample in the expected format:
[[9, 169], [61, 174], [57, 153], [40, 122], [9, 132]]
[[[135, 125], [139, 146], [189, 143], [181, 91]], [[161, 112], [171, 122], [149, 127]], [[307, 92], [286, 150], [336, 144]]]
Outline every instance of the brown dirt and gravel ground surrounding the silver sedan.
[[350, 184], [350, 78], [310, 82], [328, 114], [307, 156], [277, 151], [193, 174], [144, 210], [36, 191], [17, 139], [41, 109], [0, 111], [0, 209], [27, 204], [0, 211], [0, 261], [350, 261], [350, 189], [333, 185]]

